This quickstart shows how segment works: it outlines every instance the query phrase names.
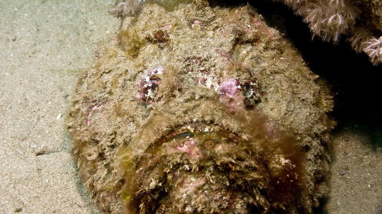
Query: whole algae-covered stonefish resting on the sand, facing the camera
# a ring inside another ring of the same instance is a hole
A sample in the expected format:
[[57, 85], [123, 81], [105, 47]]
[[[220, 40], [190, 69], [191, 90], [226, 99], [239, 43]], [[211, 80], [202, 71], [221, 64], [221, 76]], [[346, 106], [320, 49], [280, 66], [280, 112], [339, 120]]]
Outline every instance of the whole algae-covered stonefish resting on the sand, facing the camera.
[[310, 213], [331, 97], [251, 6], [146, 4], [76, 87], [73, 154], [105, 213]]

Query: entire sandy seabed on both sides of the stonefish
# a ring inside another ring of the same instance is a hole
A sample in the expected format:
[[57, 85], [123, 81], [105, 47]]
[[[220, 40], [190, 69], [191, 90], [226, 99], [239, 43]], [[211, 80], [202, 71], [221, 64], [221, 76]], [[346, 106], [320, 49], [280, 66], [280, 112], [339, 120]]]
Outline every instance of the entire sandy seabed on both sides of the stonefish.
[[[77, 176], [65, 119], [81, 70], [121, 21], [107, 12], [114, 0], [73, 2], [0, 2], [0, 213], [98, 213]], [[351, 112], [342, 104], [335, 111]], [[381, 123], [342, 116], [322, 210], [381, 214]]]

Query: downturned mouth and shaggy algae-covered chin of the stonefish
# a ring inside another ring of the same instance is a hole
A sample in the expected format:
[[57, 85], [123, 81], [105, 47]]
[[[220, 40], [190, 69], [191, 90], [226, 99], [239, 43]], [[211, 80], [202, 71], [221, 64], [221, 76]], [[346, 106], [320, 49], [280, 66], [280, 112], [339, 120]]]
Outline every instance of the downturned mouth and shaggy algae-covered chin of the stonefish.
[[297, 181], [305, 175], [295, 163], [298, 149], [283, 153], [276, 148], [277, 153], [271, 146], [280, 136], [288, 138], [237, 133], [206, 122], [173, 128], [136, 161], [129, 187], [123, 188], [125, 207], [147, 214], [283, 210], [283, 194], [301, 192]]

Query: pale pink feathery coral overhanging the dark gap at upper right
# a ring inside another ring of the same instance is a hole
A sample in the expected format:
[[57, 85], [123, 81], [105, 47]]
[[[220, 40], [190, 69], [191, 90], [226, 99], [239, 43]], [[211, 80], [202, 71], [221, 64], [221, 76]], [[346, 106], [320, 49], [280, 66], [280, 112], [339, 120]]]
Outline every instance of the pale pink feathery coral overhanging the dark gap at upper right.
[[[309, 24], [312, 36], [337, 43], [348, 36], [357, 52], [374, 64], [382, 63], [382, 6], [372, 0], [278, 0]], [[380, 38], [380, 39], [377, 39]]]

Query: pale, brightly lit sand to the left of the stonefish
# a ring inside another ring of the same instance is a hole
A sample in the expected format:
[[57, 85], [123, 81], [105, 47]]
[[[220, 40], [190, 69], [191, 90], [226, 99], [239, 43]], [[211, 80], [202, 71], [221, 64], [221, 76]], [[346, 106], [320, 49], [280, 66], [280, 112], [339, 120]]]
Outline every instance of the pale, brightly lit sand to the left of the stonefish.
[[119, 28], [113, 3], [0, 1], [0, 213], [96, 212], [64, 122], [76, 78]]

